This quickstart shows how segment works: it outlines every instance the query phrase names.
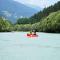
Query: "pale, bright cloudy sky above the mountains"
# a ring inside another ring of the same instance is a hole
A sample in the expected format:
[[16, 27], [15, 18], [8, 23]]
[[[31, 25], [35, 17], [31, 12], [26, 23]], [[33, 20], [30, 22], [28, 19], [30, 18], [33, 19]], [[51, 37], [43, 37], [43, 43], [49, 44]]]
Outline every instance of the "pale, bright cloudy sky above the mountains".
[[23, 4], [25, 4], [27, 6], [31, 6], [31, 7], [45, 8], [50, 5], [55, 4], [56, 2], [58, 2], [60, 0], [14, 0], [14, 1], [23, 3]]

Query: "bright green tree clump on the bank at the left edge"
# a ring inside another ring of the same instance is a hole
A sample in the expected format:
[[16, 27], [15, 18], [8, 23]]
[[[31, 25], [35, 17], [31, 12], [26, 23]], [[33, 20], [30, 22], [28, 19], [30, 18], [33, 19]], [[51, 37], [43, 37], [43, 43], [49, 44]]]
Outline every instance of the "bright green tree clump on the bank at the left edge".
[[12, 26], [9, 21], [0, 17], [0, 32], [11, 31]]

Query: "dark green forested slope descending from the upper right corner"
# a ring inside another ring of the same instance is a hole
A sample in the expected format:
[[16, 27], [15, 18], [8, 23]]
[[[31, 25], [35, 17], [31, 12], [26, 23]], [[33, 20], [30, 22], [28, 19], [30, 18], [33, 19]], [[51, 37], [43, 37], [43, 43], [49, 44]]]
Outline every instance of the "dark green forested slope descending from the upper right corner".
[[34, 14], [33, 16], [31, 16], [30, 21], [32, 21], [32, 23], [39, 22], [39, 21], [43, 20], [45, 17], [47, 17], [50, 13], [56, 12], [59, 10], [60, 10], [60, 1], [58, 1], [54, 5], [44, 8], [43, 10], [41, 10], [38, 13]]

